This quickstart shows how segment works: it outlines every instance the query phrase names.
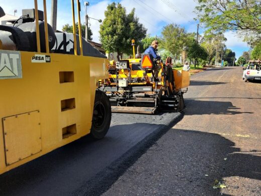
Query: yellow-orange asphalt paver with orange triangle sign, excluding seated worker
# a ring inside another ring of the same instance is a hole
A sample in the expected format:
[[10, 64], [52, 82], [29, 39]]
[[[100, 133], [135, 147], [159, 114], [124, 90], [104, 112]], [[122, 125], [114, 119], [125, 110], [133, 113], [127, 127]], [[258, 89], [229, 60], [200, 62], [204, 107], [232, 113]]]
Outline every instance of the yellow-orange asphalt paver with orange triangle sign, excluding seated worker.
[[134, 45], [133, 40], [137, 58], [109, 64], [109, 78], [99, 82], [99, 89], [109, 97], [111, 111], [155, 114], [158, 110], [183, 110], [189, 72], [173, 69], [170, 57], [163, 63], [149, 54], [135, 55]]

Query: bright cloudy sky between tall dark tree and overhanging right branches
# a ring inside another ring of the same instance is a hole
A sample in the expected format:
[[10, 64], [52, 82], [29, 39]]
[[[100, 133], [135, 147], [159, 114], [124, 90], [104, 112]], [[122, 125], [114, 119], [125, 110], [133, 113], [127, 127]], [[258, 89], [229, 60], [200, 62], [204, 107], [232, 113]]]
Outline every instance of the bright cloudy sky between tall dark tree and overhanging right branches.
[[184, 26], [195, 17], [193, 10], [196, 3], [192, 0], [176, 0], [173, 3], [165, 0], [122, 0], [120, 3], [126, 8], [127, 13], [133, 8], [136, 9], [135, 13], [140, 18], [140, 22], [151, 35], [159, 36], [166, 24], [176, 23]]

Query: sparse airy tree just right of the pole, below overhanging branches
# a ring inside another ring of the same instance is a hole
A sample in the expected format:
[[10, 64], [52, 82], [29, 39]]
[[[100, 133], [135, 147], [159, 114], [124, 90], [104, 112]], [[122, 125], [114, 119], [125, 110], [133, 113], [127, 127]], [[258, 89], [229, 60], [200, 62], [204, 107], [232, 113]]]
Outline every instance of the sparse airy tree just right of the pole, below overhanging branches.
[[[204, 47], [208, 53], [207, 61], [208, 64], [212, 64], [215, 60], [215, 55], [223, 53], [225, 48], [224, 42], [226, 38], [223, 33], [207, 33], [205, 32], [204, 37], [201, 40], [201, 46]], [[217, 55], [218, 56], [218, 55]]]

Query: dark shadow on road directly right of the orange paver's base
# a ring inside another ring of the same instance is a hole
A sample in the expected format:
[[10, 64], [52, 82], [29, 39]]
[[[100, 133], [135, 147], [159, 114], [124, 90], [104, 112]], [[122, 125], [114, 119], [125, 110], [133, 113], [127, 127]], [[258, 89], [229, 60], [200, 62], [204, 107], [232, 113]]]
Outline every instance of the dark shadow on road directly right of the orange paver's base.
[[240, 112], [241, 108], [233, 106], [231, 102], [218, 101], [201, 101], [194, 99], [185, 99], [186, 115], [237, 115], [237, 114], [253, 114], [252, 112]]

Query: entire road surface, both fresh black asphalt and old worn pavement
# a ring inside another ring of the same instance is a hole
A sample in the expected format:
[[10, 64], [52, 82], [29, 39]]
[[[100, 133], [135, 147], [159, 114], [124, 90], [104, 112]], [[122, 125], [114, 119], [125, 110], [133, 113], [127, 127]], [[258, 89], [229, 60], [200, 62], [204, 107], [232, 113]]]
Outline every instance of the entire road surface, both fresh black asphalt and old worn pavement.
[[[1, 175], [0, 195], [260, 195], [261, 84], [241, 72], [193, 75], [183, 114], [113, 114], [103, 140]], [[227, 188], [213, 189], [216, 179]]]

